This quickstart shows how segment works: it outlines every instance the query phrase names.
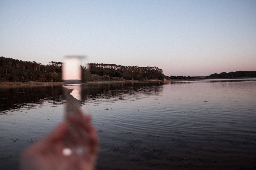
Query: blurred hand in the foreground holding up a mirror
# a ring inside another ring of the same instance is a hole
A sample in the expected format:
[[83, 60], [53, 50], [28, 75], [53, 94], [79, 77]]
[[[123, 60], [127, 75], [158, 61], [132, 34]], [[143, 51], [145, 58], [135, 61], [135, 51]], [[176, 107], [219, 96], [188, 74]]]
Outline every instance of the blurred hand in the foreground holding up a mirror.
[[99, 141], [91, 116], [83, 115], [79, 110], [76, 116], [68, 114], [67, 120], [24, 151], [21, 169], [95, 168]]

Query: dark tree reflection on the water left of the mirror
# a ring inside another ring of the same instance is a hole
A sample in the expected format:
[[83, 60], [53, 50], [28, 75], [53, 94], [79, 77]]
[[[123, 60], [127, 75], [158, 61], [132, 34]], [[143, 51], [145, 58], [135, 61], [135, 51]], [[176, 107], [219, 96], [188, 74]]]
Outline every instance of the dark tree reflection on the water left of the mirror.
[[[0, 111], [34, 106], [44, 100], [59, 103], [63, 100], [61, 86], [16, 86], [0, 88]], [[4, 114], [4, 113], [0, 113]]]

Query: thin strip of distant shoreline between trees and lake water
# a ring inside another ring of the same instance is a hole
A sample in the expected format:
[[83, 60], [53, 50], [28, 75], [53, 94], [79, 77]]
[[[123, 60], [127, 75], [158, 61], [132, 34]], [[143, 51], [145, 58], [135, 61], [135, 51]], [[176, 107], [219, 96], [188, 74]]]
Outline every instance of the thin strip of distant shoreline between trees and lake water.
[[[213, 80], [213, 79], [228, 79], [228, 78], [200, 78], [200, 79], [172, 79], [172, 80], [148, 80], [148, 81], [90, 81], [82, 84], [104, 84], [104, 83], [133, 83], [133, 82], [170, 82], [170, 81], [184, 81], [184, 80]], [[256, 79], [256, 77], [243, 77], [243, 78], [229, 78], [229, 79]], [[0, 82], [0, 87], [10, 86], [48, 86], [48, 85], [63, 85], [65, 82]]]

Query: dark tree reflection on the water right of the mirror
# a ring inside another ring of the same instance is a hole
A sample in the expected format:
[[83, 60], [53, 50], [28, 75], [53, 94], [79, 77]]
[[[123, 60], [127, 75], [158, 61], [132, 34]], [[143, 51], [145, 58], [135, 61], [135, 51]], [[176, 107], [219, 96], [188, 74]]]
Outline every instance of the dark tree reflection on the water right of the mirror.
[[163, 91], [162, 82], [147, 82], [147, 83], [113, 83], [113, 84], [86, 84], [82, 88], [82, 100], [85, 101], [91, 98], [103, 99], [121, 99], [131, 96], [136, 98], [147, 96], [148, 94], [159, 95]]

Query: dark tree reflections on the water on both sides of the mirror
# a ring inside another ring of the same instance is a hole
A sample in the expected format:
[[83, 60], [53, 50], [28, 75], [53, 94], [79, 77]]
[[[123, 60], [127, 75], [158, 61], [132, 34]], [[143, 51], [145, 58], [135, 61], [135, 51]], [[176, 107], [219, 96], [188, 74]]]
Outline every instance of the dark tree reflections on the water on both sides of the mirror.
[[[147, 97], [147, 94], [159, 95], [163, 91], [162, 82], [148, 83], [108, 83], [108, 84], [85, 84], [82, 85], [82, 103], [91, 98], [121, 99]], [[44, 101], [53, 104], [64, 103], [62, 86], [16, 86], [0, 88], [0, 114], [3, 111], [32, 107]]]

